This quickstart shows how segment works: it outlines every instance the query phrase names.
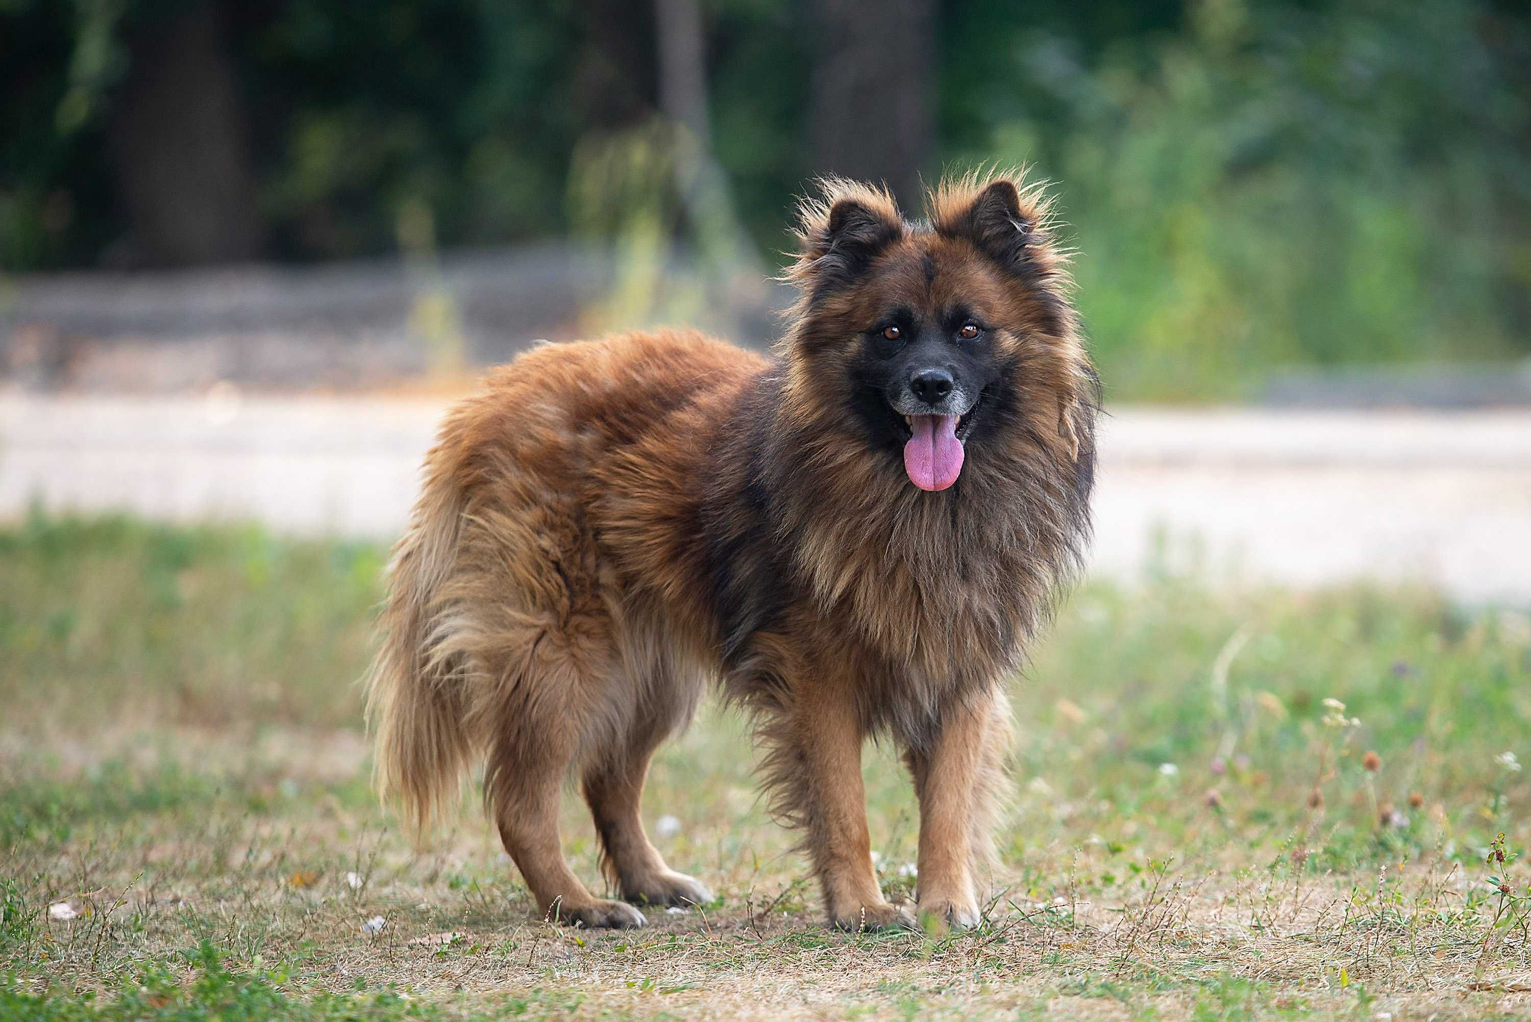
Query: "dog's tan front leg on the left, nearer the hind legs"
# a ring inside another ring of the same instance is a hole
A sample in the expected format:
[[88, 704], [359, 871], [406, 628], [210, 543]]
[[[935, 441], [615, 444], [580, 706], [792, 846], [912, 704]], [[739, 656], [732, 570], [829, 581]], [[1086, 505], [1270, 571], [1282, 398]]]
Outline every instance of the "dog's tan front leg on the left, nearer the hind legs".
[[772, 727], [778, 805], [804, 829], [830, 921], [845, 930], [914, 927], [888, 904], [871, 867], [860, 753], [865, 734], [847, 692], [811, 688]]

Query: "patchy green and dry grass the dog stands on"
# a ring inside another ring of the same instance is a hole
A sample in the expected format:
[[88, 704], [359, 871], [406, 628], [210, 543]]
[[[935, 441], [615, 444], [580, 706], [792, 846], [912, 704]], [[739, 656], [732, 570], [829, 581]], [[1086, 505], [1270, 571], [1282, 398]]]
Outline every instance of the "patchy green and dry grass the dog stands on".
[[[354, 679], [383, 558], [119, 519], [0, 531], [0, 1019], [1531, 1014], [1531, 785], [1503, 757], [1531, 759], [1520, 610], [1087, 586], [1015, 679], [975, 933], [825, 930], [747, 736], [706, 713], [646, 811], [718, 901], [591, 933], [530, 915], [470, 796], [416, 851], [369, 794]], [[908, 785], [886, 750], [867, 780], [908, 895]], [[565, 828], [594, 880], [573, 797]]]

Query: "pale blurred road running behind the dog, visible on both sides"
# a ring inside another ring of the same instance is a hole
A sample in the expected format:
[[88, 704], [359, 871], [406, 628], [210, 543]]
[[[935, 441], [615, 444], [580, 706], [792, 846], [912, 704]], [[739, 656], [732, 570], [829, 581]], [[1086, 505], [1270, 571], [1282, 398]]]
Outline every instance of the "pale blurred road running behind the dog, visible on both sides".
[[[0, 517], [121, 508], [392, 537], [444, 402], [0, 395]], [[1531, 601], [1531, 413], [1167, 412], [1104, 421], [1095, 571], [1415, 580]]]

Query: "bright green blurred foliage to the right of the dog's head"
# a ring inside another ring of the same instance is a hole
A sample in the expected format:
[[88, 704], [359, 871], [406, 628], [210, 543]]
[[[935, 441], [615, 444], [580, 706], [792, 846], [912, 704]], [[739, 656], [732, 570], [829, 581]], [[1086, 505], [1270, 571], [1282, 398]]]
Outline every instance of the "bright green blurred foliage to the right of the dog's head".
[[1531, 350], [1531, 104], [1485, 37], [1502, 21], [1456, 0], [1190, 14], [1099, 61], [1015, 35], [1014, 115], [971, 148], [1058, 182], [1108, 396]]

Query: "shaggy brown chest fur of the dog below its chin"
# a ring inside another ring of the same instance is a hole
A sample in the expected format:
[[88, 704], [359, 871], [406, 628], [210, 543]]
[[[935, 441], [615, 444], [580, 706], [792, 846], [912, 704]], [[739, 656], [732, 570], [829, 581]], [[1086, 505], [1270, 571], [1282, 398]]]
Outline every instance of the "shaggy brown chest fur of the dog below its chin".
[[[974, 451], [946, 499], [811, 427], [772, 445], [776, 528], [814, 601], [914, 678], [965, 685], [1015, 667], [1082, 568], [1093, 444], [1059, 459], [1015, 427], [1003, 450]], [[1093, 405], [1075, 428], [1093, 433]]]

